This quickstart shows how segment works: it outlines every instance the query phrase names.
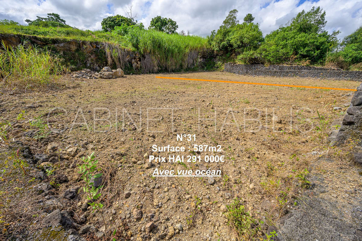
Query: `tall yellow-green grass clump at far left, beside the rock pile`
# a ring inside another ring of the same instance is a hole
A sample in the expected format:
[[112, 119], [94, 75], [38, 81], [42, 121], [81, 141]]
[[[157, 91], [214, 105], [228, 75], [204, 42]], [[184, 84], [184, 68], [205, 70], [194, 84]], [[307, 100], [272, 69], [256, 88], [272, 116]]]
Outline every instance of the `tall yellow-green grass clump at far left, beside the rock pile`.
[[38, 47], [18, 45], [0, 49], [0, 80], [8, 87], [34, 88], [50, 84], [67, 71], [58, 55]]

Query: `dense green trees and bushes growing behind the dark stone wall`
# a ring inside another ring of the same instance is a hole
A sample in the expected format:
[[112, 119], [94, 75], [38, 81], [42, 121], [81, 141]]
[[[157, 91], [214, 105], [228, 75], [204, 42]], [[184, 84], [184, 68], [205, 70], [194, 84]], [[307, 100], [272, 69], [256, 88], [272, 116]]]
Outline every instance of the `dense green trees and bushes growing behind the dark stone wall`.
[[[303, 10], [265, 38], [254, 17], [248, 13], [239, 24], [236, 9], [207, 37], [217, 53], [244, 64], [325, 65], [345, 70], [362, 70], [362, 27], [338, 42], [339, 31], [324, 29], [325, 11], [320, 7]], [[230, 56], [234, 56], [230, 58]]]

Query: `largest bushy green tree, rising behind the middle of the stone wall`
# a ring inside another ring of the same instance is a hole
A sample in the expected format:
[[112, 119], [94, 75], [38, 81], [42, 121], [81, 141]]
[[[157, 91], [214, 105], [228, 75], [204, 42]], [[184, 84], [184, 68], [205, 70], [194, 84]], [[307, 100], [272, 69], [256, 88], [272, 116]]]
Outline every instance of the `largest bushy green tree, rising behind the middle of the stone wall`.
[[328, 34], [324, 29], [326, 23], [325, 12], [320, 7], [303, 10], [285, 26], [267, 34], [258, 53], [267, 63], [323, 62], [337, 46], [339, 33]]

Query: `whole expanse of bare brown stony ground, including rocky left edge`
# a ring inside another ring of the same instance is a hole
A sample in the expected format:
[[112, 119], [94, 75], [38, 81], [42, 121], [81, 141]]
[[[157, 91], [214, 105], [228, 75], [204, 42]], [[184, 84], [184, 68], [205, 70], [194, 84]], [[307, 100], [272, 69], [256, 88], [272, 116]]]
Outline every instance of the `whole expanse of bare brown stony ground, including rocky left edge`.
[[[338, 129], [338, 124], [332, 123], [344, 116], [352, 91], [155, 76], [350, 89], [359, 85], [347, 80], [191, 72], [117, 79], [66, 76], [70, 87], [62, 90], [4, 93], [0, 102], [0, 122], [7, 128], [0, 154], [3, 238], [70, 240], [76, 232], [73, 229], [87, 240], [106, 240], [106, 231], [108, 240], [262, 238], [270, 226], [278, 227], [282, 216], [302, 205], [298, 196], [303, 187], [310, 186], [306, 168], [321, 157], [331, 157], [334, 162], [324, 163], [326, 168], [318, 164], [320, 175], [333, 182], [333, 176], [343, 171], [353, 182], [345, 188], [361, 190], [361, 169], [346, 158], [357, 140], [333, 148], [325, 140], [331, 130]], [[177, 134], [195, 134], [195, 140], [177, 141]], [[195, 144], [220, 145], [222, 151], [152, 151], [152, 145], [192, 150]], [[27, 152], [26, 146], [31, 153], [23, 158], [19, 152]], [[84, 205], [85, 183], [77, 168], [83, 163], [81, 157], [92, 152], [99, 160], [97, 170], [103, 174], [99, 200], [104, 204], [106, 230], [100, 212]], [[224, 155], [225, 161], [148, 162], [150, 155], [184, 155], [186, 161], [190, 153], [202, 160], [205, 155]], [[35, 154], [46, 155], [34, 158]], [[18, 160], [24, 160], [23, 165]], [[220, 170], [221, 176], [152, 177], [156, 168]], [[334, 185], [337, 194], [331, 198], [343, 203], [343, 190]], [[70, 196], [72, 188], [76, 191]], [[349, 195], [354, 200], [360, 192]], [[243, 217], [249, 220], [239, 225], [235, 223], [238, 218], [230, 216], [235, 211], [230, 204], [236, 198], [243, 205]], [[73, 228], [71, 231], [46, 228], [44, 218], [56, 209], [71, 214], [75, 224], [66, 227]], [[95, 228], [81, 228], [87, 224]]]

